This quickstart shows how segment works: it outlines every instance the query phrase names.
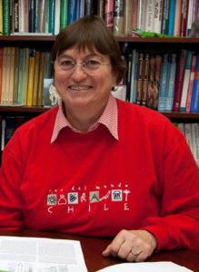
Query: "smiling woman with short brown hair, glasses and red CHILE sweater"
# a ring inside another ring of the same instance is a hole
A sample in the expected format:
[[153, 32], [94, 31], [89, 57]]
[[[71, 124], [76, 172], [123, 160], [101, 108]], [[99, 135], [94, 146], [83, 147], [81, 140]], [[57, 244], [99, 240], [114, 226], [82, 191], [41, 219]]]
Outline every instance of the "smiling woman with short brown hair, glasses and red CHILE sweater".
[[124, 63], [104, 22], [67, 26], [53, 60], [62, 102], [5, 147], [0, 228], [114, 237], [103, 255], [127, 261], [198, 248], [197, 165], [163, 115], [110, 94]]

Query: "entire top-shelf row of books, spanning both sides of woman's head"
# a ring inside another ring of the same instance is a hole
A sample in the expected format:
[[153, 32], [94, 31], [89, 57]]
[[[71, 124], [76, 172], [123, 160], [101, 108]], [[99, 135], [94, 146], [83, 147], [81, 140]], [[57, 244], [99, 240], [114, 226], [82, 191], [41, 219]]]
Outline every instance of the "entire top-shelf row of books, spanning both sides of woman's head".
[[115, 35], [188, 36], [199, 15], [197, 0], [0, 0], [0, 33], [58, 34], [84, 15], [104, 18]]

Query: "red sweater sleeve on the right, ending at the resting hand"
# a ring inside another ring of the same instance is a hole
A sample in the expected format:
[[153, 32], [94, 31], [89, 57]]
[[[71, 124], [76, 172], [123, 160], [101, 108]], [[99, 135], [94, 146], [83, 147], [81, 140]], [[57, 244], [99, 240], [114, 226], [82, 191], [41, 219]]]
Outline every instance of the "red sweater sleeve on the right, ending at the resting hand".
[[166, 135], [160, 217], [145, 219], [142, 228], [157, 238], [157, 250], [199, 248], [199, 169], [183, 134], [174, 128]]

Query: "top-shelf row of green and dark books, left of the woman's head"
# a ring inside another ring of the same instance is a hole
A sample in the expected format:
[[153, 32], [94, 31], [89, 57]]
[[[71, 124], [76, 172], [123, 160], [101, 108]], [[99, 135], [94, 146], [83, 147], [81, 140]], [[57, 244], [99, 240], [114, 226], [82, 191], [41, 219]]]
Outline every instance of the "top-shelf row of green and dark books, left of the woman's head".
[[65, 25], [91, 14], [92, 0], [0, 0], [0, 33], [58, 34]]

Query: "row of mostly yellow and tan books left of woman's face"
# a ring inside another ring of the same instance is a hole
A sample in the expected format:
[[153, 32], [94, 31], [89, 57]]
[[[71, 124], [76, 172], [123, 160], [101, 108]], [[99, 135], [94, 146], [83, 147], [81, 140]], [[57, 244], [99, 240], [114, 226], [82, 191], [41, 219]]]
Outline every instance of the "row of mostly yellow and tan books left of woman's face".
[[0, 47], [0, 103], [44, 105], [44, 79], [52, 78], [50, 52]]

